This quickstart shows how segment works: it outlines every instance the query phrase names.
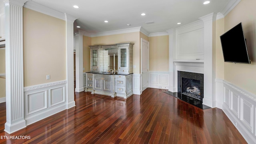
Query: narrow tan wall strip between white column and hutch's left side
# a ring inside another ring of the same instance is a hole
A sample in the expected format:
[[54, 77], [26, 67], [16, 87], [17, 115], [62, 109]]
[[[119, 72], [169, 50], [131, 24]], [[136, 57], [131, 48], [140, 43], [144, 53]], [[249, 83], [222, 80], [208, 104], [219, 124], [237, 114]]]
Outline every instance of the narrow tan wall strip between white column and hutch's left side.
[[90, 71], [90, 45], [92, 45], [92, 38], [83, 36], [83, 72]]

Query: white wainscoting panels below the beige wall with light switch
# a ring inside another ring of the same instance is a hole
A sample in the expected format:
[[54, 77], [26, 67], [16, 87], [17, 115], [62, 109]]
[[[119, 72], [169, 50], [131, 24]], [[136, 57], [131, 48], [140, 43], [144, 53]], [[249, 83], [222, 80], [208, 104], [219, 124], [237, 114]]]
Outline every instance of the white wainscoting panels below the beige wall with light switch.
[[24, 87], [24, 119], [32, 124], [67, 108], [67, 81]]

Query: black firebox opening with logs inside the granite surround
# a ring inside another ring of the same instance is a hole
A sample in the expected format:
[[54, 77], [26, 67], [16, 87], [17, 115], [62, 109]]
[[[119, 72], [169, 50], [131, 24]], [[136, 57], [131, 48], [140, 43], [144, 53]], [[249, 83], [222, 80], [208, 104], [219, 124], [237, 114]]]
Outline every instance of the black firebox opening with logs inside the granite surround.
[[202, 101], [200, 80], [181, 77], [181, 93]]

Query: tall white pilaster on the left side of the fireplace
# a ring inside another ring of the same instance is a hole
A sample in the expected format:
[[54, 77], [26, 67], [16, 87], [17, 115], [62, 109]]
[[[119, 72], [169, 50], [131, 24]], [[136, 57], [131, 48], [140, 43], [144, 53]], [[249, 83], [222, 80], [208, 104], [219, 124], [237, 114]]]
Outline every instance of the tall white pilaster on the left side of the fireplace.
[[174, 66], [173, 60], [175, 59], [175, 48], [176, 48], [176, 30], [166, 30], [169, 34], [169, 91], [177, 92], [177, 80], [176, 80], [176, 66]]

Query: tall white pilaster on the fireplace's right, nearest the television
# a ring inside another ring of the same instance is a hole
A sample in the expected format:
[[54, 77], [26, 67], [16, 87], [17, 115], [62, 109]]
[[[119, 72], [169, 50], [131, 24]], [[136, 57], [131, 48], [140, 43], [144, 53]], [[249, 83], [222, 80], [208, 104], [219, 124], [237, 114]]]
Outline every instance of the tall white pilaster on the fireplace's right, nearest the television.
[[216, 22], [216, 13], [211, 13], [200, 19], [204, 22], [204, 99], [203, 104], [210, 107], [216, 107], [215, 98], [215, 75], [213, 75], [213, 42], [216, 30], [214, 28]]

